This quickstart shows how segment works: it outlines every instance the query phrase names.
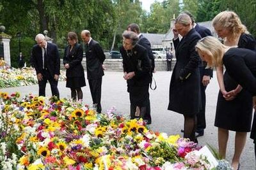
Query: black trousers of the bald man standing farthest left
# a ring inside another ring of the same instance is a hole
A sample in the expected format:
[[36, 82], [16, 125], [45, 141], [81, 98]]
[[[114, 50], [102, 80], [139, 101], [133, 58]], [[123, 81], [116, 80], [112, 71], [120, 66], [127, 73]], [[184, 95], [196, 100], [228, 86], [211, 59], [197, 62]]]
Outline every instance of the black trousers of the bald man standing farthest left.
[[49, 81], [49, 83], [51, 85], [52, 96], [56, 96], [59, 99], [60, 98], [60, 93], [59, 93], [59, 90], [58, 90], [58, 80], [57, 81], [54, 80], [54, 77], [46, 69], [43, 70], [42, 75], [43, 75], [43, 80], [38, 81], [39, 96], [45, 96], [46, 83], [47, 83], [47, 81]]

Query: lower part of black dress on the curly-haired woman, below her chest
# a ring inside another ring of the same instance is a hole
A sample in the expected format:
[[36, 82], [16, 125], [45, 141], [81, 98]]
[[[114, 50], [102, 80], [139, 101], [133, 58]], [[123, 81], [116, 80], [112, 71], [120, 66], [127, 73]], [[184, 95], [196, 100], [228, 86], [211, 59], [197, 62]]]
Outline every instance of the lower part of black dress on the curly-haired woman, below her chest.
[[[237, 87], [227, 71], [224, 74], [224, 85], [228, 91]], [[250, 132], [252, 123], [252, 95], [241, 90], [232, 101], [226, 101], [219, 92], [214, 125], [236, 132]]]

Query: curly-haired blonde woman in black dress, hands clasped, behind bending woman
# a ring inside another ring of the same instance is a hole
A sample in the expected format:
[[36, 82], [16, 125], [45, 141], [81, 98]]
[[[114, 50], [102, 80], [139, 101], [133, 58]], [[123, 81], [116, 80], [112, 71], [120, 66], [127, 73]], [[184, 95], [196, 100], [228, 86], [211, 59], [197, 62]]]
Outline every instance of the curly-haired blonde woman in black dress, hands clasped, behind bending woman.
[[[218, 36], [224, 39], [224, 45], [255, 50], [255, 39], [248, 34], [246, 27], [233, 11], [219, 13], [212, 20], [212, 25]], [[225, 158], [228, 131], [236, 131], [235, 153], [232, 159], [232, 166], [236, 169], [246, 143], [246, 134], [251, 129], [252, 97], [227, 71], [223, 74], [223, 66], [216, 67], [216, 70], [220, 92], [214, 125], [218, 127], [219, 152]]]

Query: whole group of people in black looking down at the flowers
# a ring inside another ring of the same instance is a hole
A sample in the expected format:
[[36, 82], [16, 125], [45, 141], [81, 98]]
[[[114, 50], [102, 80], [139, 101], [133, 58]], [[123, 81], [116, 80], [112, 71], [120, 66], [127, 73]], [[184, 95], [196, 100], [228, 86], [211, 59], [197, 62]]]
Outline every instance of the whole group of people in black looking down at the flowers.
[[[218, 127], [219, 152], [225, 159], [228, 131], [236, 131], [232, 167], [239, 169], [246, 134], [251, 131], [253, 107], [256, 109], [255, 39], [233, 11], [219, 13], [212, 20], [212, 25], [218, 36], [224, 39], [223, 45], [212, 37], [209, 29], [196, 24], [189, 12], [181, 13], [175, 19], [172, 31], [177, 60], [170, 81], [168, 110], [184, 116], [184, 138], [198, 142], [197, 138], [204, 136], [206, 127], [205, 89], [212, 77], [212, 67], [216, 67], [220, 93], [214, 125]], [[150, 42], [140, 33], [138, 24], [128, 25], [122, 38], [120, 53], [123, 57], [124, 80], [127, 81], [131, 103], [131, 119], [143, 118], [145, 124], [151, 124], [148, 90], [152, 82], [152, 73], [155, 72], [155, 62]], [[82, 100], [81, 87], [86, 85], [81, 64], [83, 48], [77, 43], [75, 32], [68, 32], [67, 39], [68, 46], [63, 57], [63, 64], [67, 69], [66, 86], [71, 89], [72, 99]], [[103, 62], [106, 57], [99, 43], [91, 38], [90, 31], [82, 31], [81, 39], [86, 44], [87, 78], [93, 104], [97, 112], [101, 113], [101, 85], [105, 68]], [[37, 45], [33, 46], [31, 64], [36, 69], [39, 95], [45, 96], [45, 85], [49, 81], [52, 96], [59, 97], [58, 48], [53, 43], [45, 41], [43, 34], [36, 35], [35, 40]], [[227, 69], [224, 74], [223, 65]], [[239, 70], [239, 74], [235, 73], [235, 69]], [[136, 115], [138, 110], [140, 114]], [[254, 115], [251, 133], [254, 142], [255, 130]]]

